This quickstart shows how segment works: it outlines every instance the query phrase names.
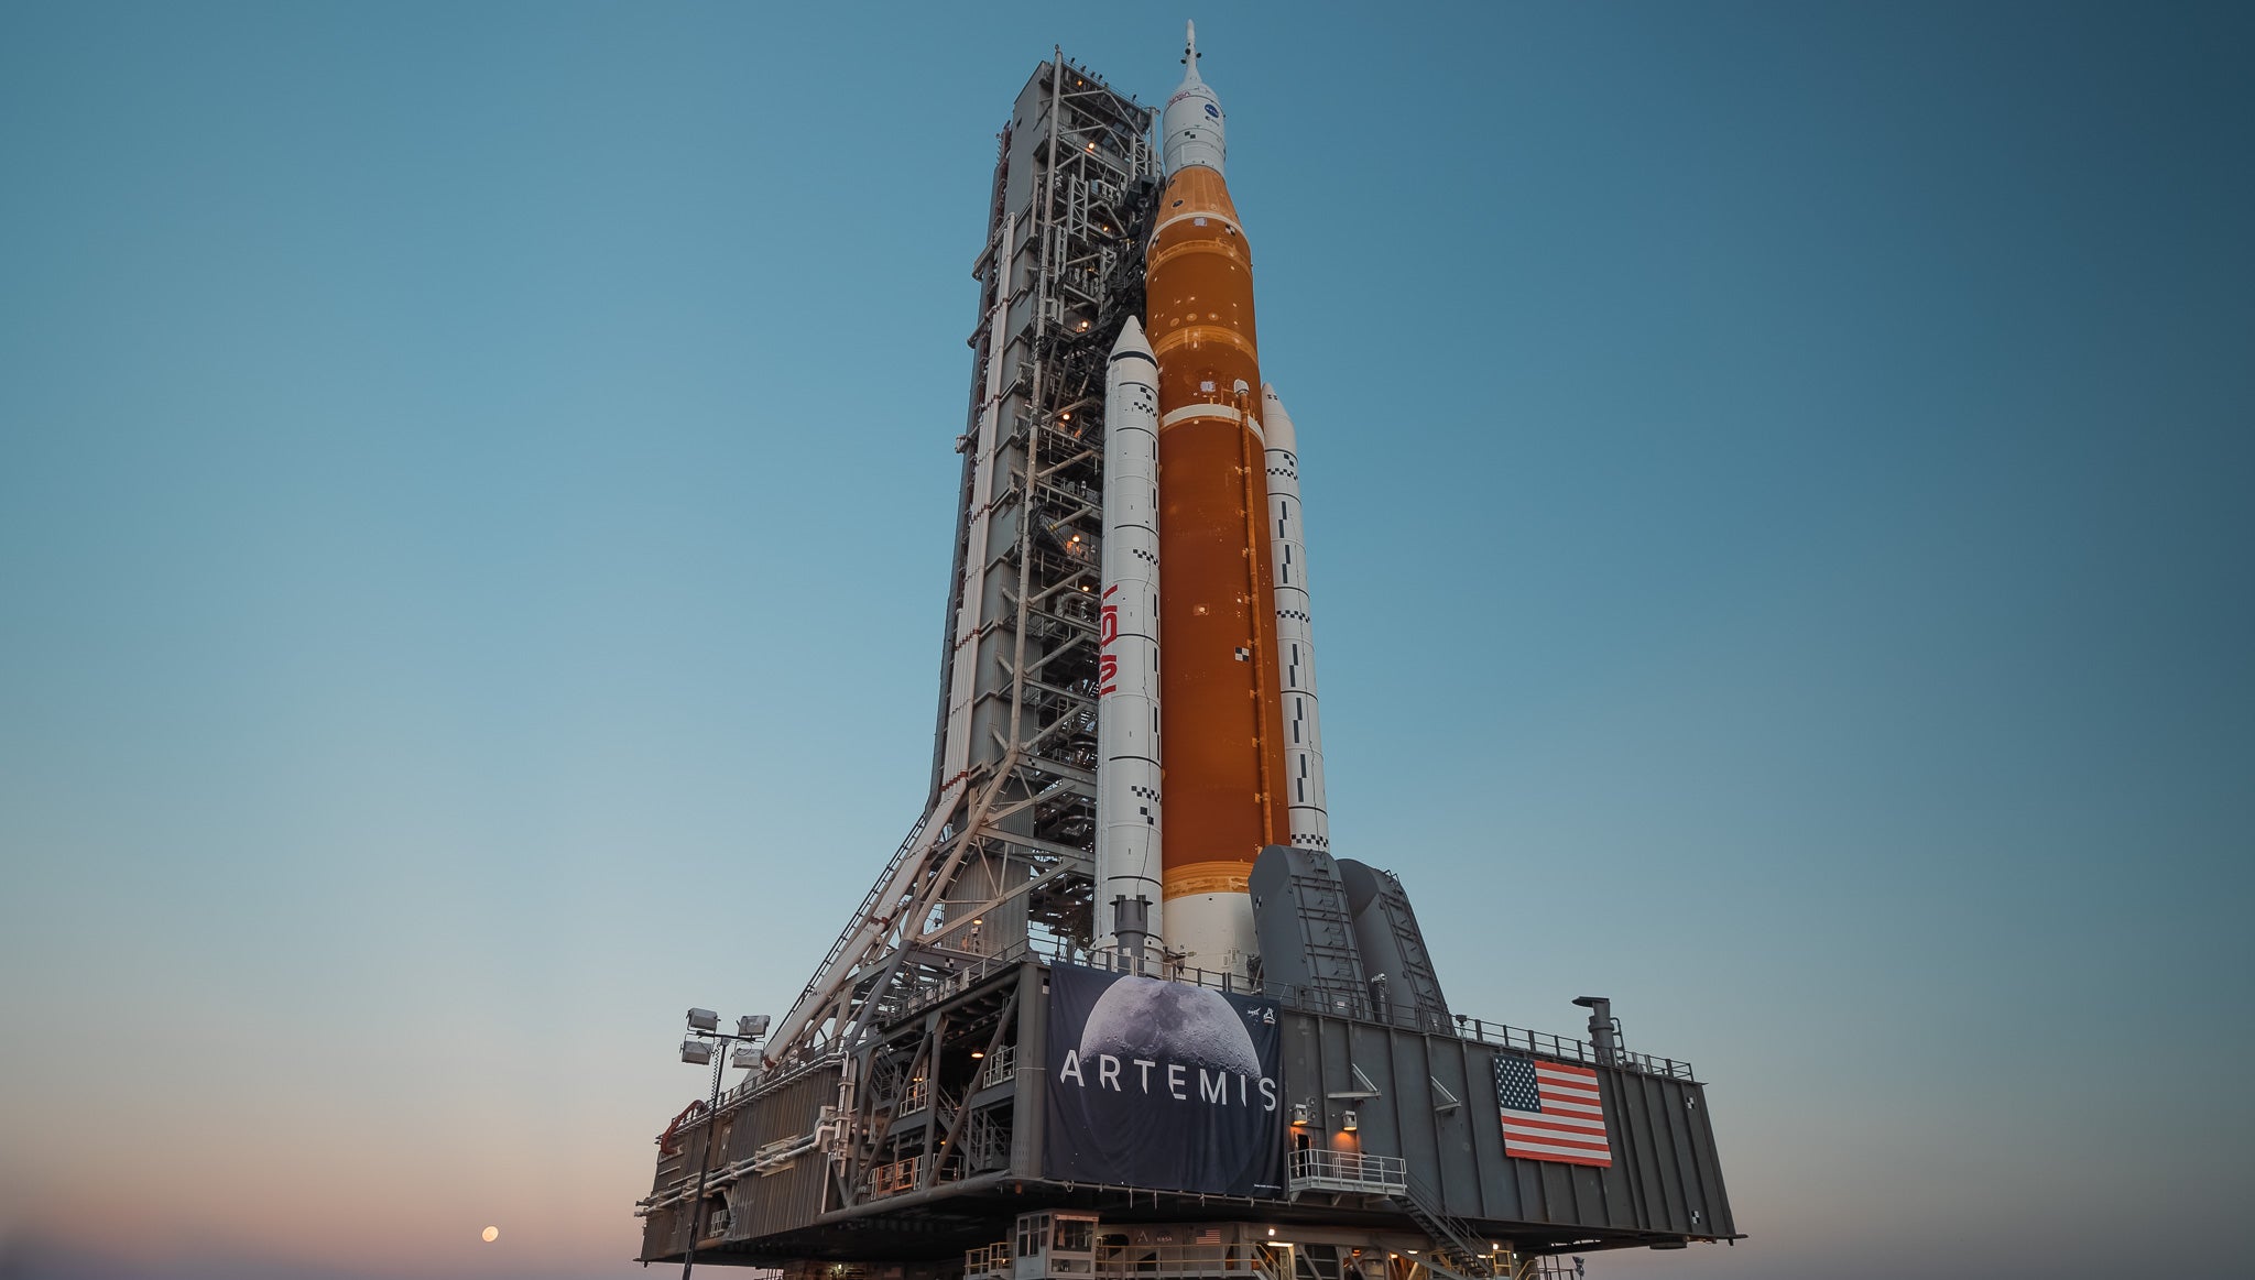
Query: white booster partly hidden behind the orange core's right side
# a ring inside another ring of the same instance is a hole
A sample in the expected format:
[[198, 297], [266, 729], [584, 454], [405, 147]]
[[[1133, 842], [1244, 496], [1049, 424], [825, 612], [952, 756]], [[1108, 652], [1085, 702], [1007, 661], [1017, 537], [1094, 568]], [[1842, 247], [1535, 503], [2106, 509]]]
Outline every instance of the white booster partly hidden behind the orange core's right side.
[[1315, 620], [1308, 599], [1308, 545], [1299, 523], [1299, 439], [1276, 388], [1261, 385], [1261, 426], [1270, 480], [1270, 552], [1276, 561], [1276, 667], [1283, 685], [1283, 773], [1292, 845], [1330, 852], [1324, 807], [1324, 726], [1315, 705]]

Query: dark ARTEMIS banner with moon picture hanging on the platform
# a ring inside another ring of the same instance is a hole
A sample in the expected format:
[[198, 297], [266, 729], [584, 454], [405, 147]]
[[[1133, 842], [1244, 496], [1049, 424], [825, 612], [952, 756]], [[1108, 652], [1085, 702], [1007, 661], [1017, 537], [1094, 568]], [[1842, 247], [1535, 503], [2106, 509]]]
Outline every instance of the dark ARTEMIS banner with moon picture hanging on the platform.
[[1283, 1190], [1276, 1001], [1058, 965], [1046, 1048], [1046, 1176]]

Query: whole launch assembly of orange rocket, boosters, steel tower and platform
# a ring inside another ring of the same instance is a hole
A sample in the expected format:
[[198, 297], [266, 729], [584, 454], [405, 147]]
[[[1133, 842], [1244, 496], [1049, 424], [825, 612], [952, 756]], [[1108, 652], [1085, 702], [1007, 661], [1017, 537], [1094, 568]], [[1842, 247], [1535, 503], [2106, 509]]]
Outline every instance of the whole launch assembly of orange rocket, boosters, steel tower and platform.
[[1017, 95], [925, 816], [658, 1138], [643, 1262], [1454, 1280], [1736, 1239], [1689, 1064], [1597, 998], [1588, 1041], [1452, 1014], [1403, 883], [1330, 850], [1297, 444], [1184, 65], [1157, 119], [1062, 54]]

